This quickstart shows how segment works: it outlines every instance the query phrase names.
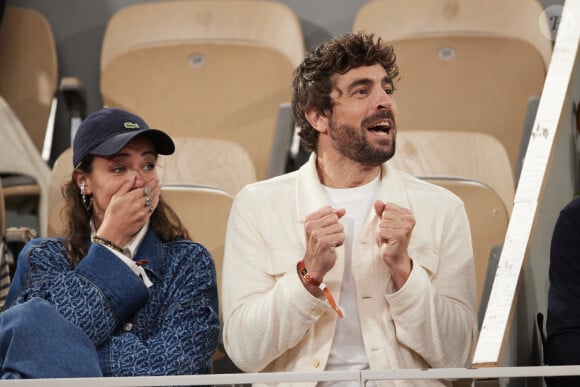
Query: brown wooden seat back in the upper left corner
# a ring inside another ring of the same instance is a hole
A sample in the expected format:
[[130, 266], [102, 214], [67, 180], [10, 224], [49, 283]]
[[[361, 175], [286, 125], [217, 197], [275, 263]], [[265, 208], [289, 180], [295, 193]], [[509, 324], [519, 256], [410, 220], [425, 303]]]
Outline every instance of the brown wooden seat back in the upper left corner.
[[8, 6], [0, 23], [0, 95], [38, 152], [58, 85], [56, 45], [48, 20], [28, 8]]

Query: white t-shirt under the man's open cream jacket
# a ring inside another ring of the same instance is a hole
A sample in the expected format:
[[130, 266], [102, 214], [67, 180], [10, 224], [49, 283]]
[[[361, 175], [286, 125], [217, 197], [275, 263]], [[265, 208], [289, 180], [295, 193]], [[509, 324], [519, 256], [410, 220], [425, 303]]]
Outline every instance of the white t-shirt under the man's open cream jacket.
[[[346, 214], [340, 222], [345, 234], [345, 266], [340, 289], [340, 307], [344, 318], [339, 318], [326, 371], [364, 370], [369, 368], [360, 321], [358, 318], [357, 293], [352, 272], [355, 241], [358, 240], [366, 217], [380, 187], [380, 175], [360, 187], [335, 189], [324, 187], [330, 203], [336, 208], [345, 208]], [[358, 386], [358, 382], [321, 382], [319, 386]]]

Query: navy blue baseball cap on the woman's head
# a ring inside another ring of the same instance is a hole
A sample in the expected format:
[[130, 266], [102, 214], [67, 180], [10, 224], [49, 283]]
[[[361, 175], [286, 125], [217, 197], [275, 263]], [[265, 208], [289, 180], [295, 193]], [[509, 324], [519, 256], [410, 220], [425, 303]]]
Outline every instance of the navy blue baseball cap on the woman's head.
[[89, 114], [77, 129], [73, 142], [73, 166], [76, 168], [88, 155], [112, 156], [137, 136], [153, 141], [158, 154], [175, 151], [171, 137], [159, 129], [151, 129], [138, 115], [123, 109], [104, 108]]

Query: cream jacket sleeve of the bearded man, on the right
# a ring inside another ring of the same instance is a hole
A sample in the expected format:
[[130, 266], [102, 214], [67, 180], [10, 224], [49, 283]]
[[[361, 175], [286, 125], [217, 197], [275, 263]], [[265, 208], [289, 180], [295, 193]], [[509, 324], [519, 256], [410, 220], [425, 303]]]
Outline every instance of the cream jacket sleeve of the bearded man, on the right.
[[385, 297], [402, 344], [431, 367], [468, 367], [477, 319], [473, 250], [463, 205], [447, 213], [441, 235], [436, 272], [417, 257], [405, 285]]

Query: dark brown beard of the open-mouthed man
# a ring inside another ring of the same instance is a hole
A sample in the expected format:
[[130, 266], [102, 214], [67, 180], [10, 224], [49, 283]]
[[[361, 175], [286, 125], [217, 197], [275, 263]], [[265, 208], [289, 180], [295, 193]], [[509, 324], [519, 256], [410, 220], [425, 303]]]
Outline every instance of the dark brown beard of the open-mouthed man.
[[[389, 118], [392, 118], [390, 113]], [[377, 118], [373, 119], [376, 120]], [[333, 140], [334, 148], [341, 155], [362, 165], [371, 167], [381, 165], [394, 156], [396, 143], [394, 135], [390, 149], [383, 150], [382, 148], [375, 148], [371, 146], [367, 139], [361, 135], [362, 129], [357, 129], [348, 124], [342, 124], [337, 121], [338, 120], [335, 120], [334, 117], [331, 117], [329, 135]], [[393, 127], [390, 130], [396, 134], [396, 132], [394, 132], [394, 120]]]

